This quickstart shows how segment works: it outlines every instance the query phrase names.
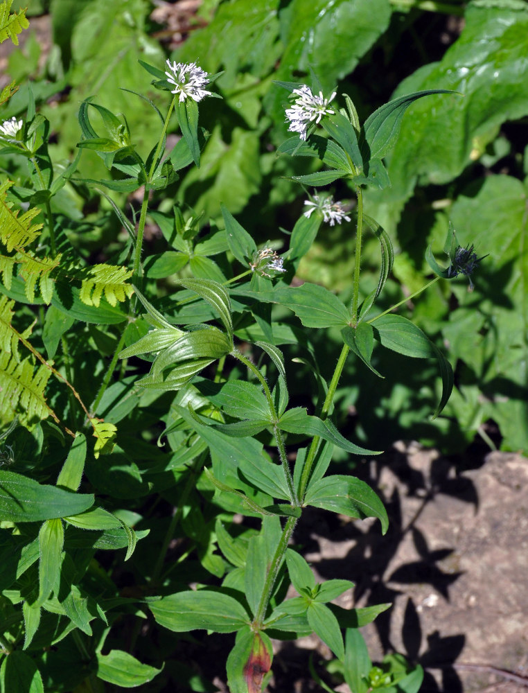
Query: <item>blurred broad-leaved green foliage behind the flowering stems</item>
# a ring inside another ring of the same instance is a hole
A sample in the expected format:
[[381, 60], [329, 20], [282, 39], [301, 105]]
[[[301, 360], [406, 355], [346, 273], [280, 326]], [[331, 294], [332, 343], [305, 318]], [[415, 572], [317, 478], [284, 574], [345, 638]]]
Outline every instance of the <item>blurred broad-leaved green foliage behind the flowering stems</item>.
[[[528, 8], [522, 0], [473, 0], [449, 7], [450, 18], [445, 11], [423, 12], [403, 0], [204, 3], [200, 13], [209, 24], [193, 30], [171, 58], [198, 60], [210, 73], [224, 70], [217, 82], [224, 100], [204, 102], [202, 118], [211, 138], [202, 166], [192, 168], [173, 195], [213, 220], [220, 218], [223, 202], [257, 240], [280, 245], [276, 229], [297, 218], [305, 195], [284, 177], [299, 173], [299, 159], [276, 157], [274, 151], [285, 139], [285, 125], [280, 125], [285, 98], [272, 80], [297, 79], [311, 67], [324, 89], [337, 85], [337, 91], [351, 94], [360, 118], [391, 94], [459, 91], [463, 96], [457, 100], [432, 96], [412, 106], [412, 117], [404, 119], [388, 157], [391, 188], [366, 195], [367, 213], [396, 242], [387, 305], [401, 291], [421, 286], [425, 249], [431, 244], [441, 256], [449, 220], [462, 244], [474, 243], [479, 255], [489, 254], [475, 292], [468, 293], [463, 283], [443, 283], [409, 306], [418, 324], [448, 349], [455, 393], [443, 416], [430, 422], [434, 393], [416, 387], [408, 363], [402, 360], [387, 371], [375, 353], [373, 363], [386, 380], [371, 380], [369, 371], [349, 366], [341, 405], [343, 412], [355, 406], [364, 441], [376, 432], [385, 445], [403, 437], [461, 450], [475, 432], [485, 434], [484, 424], [491, 419], [500, 427], [502, 448], [527, 450], [528, 138], [523, 126], [528, 116]], [[91, 95], [114, 112], [132, 113], [134, 136], [150, 146], [155, 114], [118, 88], [145, 85], [137, 58], [161, 64], [163, 50], [150, 37], [159, 27], [149, 21], [150, 10], [145, 0], [91, 0], [82, 7], [75, 0], [55, 0], [55, 43], [45, 67], [37, 68], [38, 46], [31, 39], [25, 56], [13, 55], [10, 73], [18, 80], [32, 76], [42, 101], [58, 89], [69, 90], [66, 98], [42, 105], [45, 114], [53, 114], [55, 155], [73, 152], [78, 103]], [[155, 92], [149, 96], [155, 103], [159, 99]], [[24, 98], [21, 89], [6, 116], [15, 114]], [[103, 170], [95, 157], [83, 157], [80, 166], [90, 178]], [[161, 209], [173, 202], [168, 193]], [[337, 184], [335, 193], [351, 197], [344, 184]], [[69, 218], [80, 218], [80, 202], [71, 191], [61, 193], [60, 202]], [[108, 224], [83, 229], [83, 241], [110, 243], [116, 228], [111, 219]], [[340, 290], [348, 283], [352, 258], [346, 227], [327, 228], [298, 274]], [[324, 348], [325, 362], [331, 363], [333, 344]]]

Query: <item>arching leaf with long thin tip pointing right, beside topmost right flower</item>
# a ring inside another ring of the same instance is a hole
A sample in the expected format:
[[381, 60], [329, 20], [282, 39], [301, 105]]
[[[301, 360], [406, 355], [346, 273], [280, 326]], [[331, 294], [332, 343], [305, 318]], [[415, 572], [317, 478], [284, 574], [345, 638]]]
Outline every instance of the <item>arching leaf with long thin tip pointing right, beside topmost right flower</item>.
[[394, 147], [400, 132], [401, 119], [407, 108], [422, 96], [431, 94], [455, 94], [450, 89], [425, 89], [412, 94], [399, 96], [374, 111], [365, 121], [360, 147], [364, 159], [381, 159]]

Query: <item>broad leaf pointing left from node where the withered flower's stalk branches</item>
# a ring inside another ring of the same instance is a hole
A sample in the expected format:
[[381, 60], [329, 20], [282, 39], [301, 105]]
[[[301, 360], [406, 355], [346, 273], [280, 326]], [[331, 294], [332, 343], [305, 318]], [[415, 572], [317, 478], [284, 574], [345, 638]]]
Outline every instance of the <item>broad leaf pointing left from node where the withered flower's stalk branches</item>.
[[278, 289], [273, 300], [293, 310], [305, 327], [344, 327], [350, 322], [349, 310], [342, 301], [319, 284], [306, 282]]

